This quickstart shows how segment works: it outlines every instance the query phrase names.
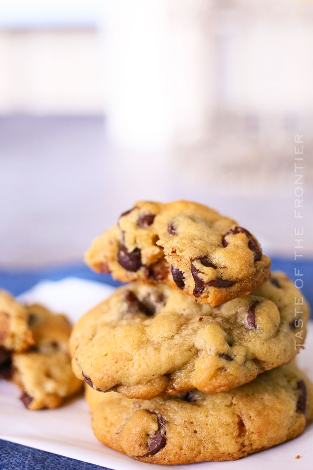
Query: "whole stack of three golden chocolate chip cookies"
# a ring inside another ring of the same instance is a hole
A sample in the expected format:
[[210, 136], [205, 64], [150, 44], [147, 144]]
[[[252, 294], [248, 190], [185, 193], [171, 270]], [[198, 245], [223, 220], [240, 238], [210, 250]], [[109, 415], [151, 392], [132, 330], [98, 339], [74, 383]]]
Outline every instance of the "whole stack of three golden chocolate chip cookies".
[[313, 385], [293, 361], [308, 306], [235, 220], [138, 202], [86, 260], [130, 282], [70, 339], [103, 444], [159, 464], [234, 460], [313, 419]]

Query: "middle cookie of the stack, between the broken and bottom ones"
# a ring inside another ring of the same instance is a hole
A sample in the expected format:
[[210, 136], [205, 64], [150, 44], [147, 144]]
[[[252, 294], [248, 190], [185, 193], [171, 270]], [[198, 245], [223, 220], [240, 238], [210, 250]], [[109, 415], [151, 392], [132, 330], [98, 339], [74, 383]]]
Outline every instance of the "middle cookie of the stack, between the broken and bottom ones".
[[295, 317], [295, 297], [302, 296], [282, 273], [216, 307], [165, 284], [132, 283], [77, 322], [73, 370], [96, 390], [130, 398], [230, 390], [297, 354], [309, 308], [304, 300]]

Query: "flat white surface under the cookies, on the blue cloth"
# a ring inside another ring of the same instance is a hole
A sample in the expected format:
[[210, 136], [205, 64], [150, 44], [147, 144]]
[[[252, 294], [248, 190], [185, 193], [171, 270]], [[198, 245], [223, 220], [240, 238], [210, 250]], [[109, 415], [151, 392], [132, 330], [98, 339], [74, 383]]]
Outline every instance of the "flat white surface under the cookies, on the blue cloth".
[[[85, 311], [103, 300], [112, 288], [98, 282], [75, 278], [58, 282], [41, 282], [20, 298], [41, 302], [54, 311], [65, 312], [76, 321]], [[299, 365], [313, 379], [313, 324], [305, 350], [298, 356]], [[73, 400], [55, 410], [30, 411], [19, 400], [20, 391], [13, 384], [0, 384], [0, 439], [73, 459], [102, 465], [114, 470], [155, 469], [164, 466], [137, 462], [100, 444], [92, 433], [90, 416], [84, 399]], [[300, 459], [296, 459], [300, 455]], [[193, 469], [264, 470], [311, 469], [313, 467], [313, 425], [296, 439], [272, 449], [252, 454], [235, 462], [210, 462], [188, 465]], [[172, 466], [172, 469], [182, 466]]]

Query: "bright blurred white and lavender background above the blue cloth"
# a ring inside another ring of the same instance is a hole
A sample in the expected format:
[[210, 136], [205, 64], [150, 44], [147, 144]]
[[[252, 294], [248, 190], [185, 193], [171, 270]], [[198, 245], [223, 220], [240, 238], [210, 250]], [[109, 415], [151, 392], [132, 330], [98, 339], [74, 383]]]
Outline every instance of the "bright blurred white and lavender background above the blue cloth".
[[313, 0], [2, 1], [0, 268], [81, 263], [137, 199], [293, 259], [295, 134], [312, 257], [312, 50]]

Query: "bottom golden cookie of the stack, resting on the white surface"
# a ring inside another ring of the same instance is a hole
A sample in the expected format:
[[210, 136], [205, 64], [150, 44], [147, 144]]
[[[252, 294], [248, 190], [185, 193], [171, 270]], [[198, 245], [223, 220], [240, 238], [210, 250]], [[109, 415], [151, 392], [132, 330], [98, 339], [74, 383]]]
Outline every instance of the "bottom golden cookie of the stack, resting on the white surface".
[[294, 362], [228, 392], [152, 400], [86, 386], [100, 442], [143, 462], [236, 460], [295, 438], [313, 420], [313, 384]]

